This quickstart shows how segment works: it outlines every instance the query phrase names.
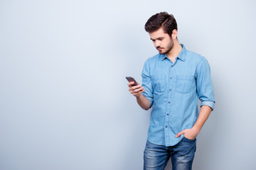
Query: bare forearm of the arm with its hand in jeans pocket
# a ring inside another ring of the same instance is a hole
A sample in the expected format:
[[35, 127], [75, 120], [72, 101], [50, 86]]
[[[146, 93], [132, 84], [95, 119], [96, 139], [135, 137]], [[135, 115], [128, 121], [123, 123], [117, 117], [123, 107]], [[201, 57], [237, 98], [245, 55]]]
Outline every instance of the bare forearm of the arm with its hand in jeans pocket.
[[204, 123], [206, 123], [206, 120], [208, 119], [211, 111], [212, 109], [209, 106], [203, 105], [201, 107], [198, 119], [196, 120], [196, 123], [193, 125], [192, 128], [196, 131], [197, 134], [200, 132], [201, 128], [203, 128], [203, 125]]

